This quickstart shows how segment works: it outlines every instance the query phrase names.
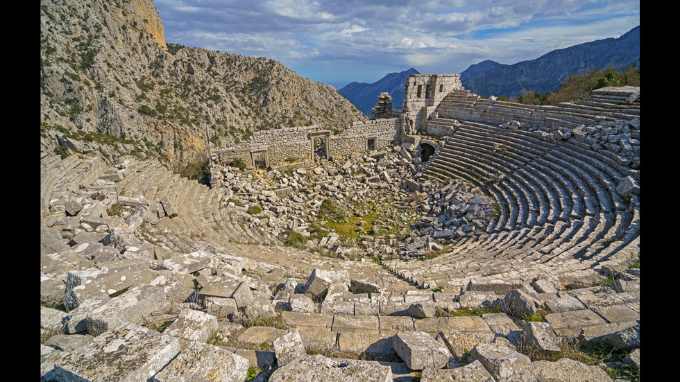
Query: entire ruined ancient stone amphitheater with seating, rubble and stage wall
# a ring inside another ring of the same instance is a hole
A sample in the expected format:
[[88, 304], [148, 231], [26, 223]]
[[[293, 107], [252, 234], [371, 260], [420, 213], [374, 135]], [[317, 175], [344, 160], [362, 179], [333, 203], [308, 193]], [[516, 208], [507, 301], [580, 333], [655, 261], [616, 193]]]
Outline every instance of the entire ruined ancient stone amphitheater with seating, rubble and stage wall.
[[[639, 380], [639, 88], [547, 107], [458, 78], [214, 150], [212, 188], [42, 155], [42, 380]], [[328, 198], [397, 217], [346, 248], [309, 232]]]

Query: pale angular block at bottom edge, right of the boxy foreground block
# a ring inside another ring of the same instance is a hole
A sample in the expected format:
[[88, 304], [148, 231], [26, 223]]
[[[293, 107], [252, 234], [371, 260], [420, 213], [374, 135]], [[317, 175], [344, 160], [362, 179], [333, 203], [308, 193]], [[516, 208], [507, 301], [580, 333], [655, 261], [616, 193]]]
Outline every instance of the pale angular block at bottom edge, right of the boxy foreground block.
[[468, 359], [482, 363], [496, 382], [533, 381], [532, 361], [512, 347], [479, 344], [470, 351]]

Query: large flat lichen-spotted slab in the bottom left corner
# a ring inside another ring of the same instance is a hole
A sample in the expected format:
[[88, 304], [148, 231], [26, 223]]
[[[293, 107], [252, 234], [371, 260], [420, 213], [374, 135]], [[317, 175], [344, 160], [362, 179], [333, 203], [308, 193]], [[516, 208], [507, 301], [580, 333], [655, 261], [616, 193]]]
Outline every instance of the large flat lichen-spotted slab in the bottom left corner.
[[55, 363], [60, 381], [146, 381], [180, 352], [177, 338], [126, 324]]

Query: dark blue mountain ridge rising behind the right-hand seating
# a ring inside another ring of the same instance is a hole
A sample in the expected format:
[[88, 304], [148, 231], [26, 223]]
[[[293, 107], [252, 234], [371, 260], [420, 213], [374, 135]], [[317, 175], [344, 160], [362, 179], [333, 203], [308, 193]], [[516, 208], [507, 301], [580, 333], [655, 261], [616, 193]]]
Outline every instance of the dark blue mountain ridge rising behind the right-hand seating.
[[535, 60], [497, 67], [463, 81], [466, 90], [480, 96], [520, 96], [522, 89], [555, 92], [563, 80], [583, 69], [620, 69], [640, 65], [640, 26], [618, 38], [607, 38], [557, 49]]

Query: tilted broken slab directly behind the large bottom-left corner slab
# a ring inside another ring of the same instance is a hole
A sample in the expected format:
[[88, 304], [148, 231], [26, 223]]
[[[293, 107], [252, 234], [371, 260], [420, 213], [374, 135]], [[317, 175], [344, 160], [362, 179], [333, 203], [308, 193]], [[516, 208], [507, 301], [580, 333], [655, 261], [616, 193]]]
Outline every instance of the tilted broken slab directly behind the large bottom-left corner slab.
[[144, 325], [155, 315], [168, 311], [171, 302], [162, 286], [143, 284], [131, 288], [123, 295], [87, 314], [87, 332], [92, 336], [130, 323]]

